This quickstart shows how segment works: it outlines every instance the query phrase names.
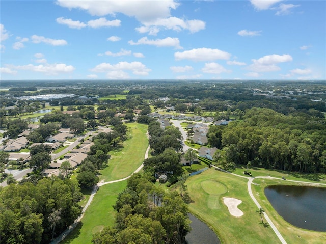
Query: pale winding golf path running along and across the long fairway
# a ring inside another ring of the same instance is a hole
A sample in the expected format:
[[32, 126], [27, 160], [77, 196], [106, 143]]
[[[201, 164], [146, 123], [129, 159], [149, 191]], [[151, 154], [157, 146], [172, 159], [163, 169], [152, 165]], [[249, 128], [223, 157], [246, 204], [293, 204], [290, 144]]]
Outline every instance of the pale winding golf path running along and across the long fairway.
[[[148, 152], [149, 152], [149, 149], [150, 149], [150, 146], [148, 146], [147, 147], [147, 150], [146, 150], [146, 152], [145, 152], [145, 156], [144, 156], [144, 159], [146, 159], [146, 158], [148, 158]], [[141, 166], [140, 167], [138, 167], [138, 169], [137, 170], [135, 170], [131, 175], [133, 175], [133, 174], [135, 174], [135, 173], [138, 173], [142, 168], [143, 168], [143, 166], [144, 166], [144, 162], [141, 164]], [[97, 183], [97, 185], [95, 185], [94, 187], [93, 187], [93, 190], [92, 190], [92, 193], [91, 193], [91, 196], [90, 196], [90, 198], [88, 199], [88, 201], [87, 201], [87, 203], [86, 203], [86, 205], [85, 205], [85, 207], [83, 208], [83, 211], [82, 211], [82, 215], [80, 215], [79, 216], [79, 218], [78, 219], [76, 219], [75, 221], [74, 221], [74, 223], [72, 224], [72, 225], [70, 225], [64, 232], [62, 232], [55, 240], [52, 240], [51, 242], [50, 242], [50, 244], [58, 244], [58, 243], [60, 243], [76, 226], [77, 226], [77, 224], [80, 222], [80, 220], [82, 220], [82, 218], [83, 218], [83, 216], [84, 216], [84, 213], [85, 213], [85, 211], [86, 211], [86, 209], [89, 207], [89, 205], [91, 204], [91, 202], [92, 202], [92, 200], [93, 200], [93, 198], [94, 198], [94, 196], [95, 196], [95, 194], [96, 194], [96, 192], [97, 192], [97, 190], [98, 190], [98, 188], [99, 187], [101, 187], [102, 185], [106, 185], [106, 184], [112, 184], [112, 183], [116, 183], [116, 182], [120, 182], [120, 181], [124, 181], [124, 180], [126, 180], [126, 179], [128, 179], [128, 178], [130, 178], [131, 177], [131, 175], [129, 175], [129, 176], [127, 176], [127, 177], [125, 177], [125, 178], [122, 178], [122, 179], [119, 179], [119, 180], [112, 180], [112, 181], [107, 181], [107, 182], [99, 182], [99, 183]]]

